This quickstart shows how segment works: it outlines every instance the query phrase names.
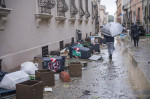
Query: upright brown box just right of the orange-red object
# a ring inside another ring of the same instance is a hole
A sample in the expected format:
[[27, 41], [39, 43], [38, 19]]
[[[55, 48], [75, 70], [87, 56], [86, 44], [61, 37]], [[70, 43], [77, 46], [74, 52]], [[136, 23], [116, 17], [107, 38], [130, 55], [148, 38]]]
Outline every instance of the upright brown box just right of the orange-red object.
[[70, 63], [69, 74], [71, 77], [81, 77], [82, 76], [82, 64], [80, 62]]

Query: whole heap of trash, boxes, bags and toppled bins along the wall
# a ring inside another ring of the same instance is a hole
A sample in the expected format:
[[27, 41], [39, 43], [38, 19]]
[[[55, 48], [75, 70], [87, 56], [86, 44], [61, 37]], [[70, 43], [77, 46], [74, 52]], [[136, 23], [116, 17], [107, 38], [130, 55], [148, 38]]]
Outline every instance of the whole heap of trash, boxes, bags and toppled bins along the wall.
[[61, 51], [34, 57], [33, 62], [22, 63], [19, 71], [5, 73], [0, 88], [16, 90], [16, 99], [43, 99], [43, 92], [51, 92], [55, 86], [55, 74], [59, 74], [62, 82], [70, 82], [71, 77], [82, 77], [82, 71], [88, 66], [86, 60], [102, 59], [101, 41], [99, 36], [91, 36], [85, 41], [66, 44]]

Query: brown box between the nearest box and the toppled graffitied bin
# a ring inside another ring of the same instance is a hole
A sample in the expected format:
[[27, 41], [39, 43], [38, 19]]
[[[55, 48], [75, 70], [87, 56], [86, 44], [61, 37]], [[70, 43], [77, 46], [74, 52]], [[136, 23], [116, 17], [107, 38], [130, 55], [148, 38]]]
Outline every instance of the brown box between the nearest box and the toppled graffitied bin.
[[54, 72], [50, 70], [37, 70], [35, 71], [35, 79], [38, 81], [43, 81], [43, 86], [55, 86]]

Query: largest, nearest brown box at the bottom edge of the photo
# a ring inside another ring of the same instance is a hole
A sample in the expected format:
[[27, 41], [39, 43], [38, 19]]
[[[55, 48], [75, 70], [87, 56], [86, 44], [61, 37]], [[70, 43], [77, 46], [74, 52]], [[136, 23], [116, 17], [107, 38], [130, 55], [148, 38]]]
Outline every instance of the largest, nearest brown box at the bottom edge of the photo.
[[16, 84], [16, 99], [43, 99], [43, 82], [28, 80]]

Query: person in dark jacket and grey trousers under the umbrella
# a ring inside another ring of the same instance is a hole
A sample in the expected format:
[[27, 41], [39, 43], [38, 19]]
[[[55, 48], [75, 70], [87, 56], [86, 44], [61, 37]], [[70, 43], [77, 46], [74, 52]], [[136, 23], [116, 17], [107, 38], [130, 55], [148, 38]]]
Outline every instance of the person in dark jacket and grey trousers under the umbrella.
[[108, 48], [109, 59], [111, 60], [113, 51], [115, 50], [114, 37], [104, 35], [104, 38], [106, 39], [106, 45], [107, 45], [107, 48]]

